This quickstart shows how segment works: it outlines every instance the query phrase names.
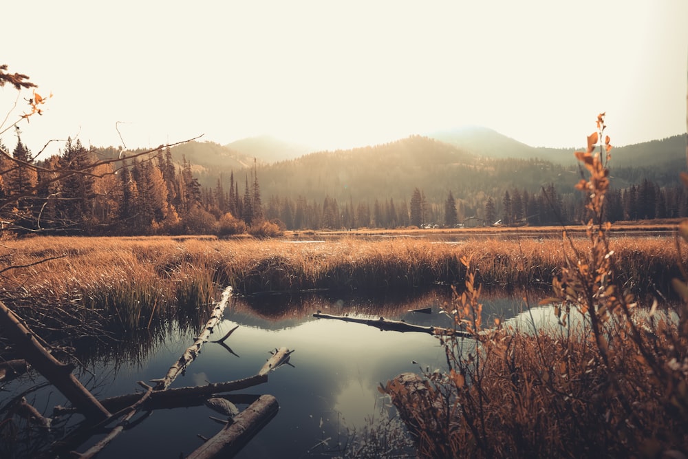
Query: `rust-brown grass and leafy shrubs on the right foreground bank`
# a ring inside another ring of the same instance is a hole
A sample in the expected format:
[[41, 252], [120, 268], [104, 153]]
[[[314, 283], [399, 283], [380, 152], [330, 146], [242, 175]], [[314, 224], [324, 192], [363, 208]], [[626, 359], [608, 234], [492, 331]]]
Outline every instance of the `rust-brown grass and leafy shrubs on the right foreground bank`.
[[[577, 185], [591, 215], [586, 237], [564, 236], [552, 296], [541, 301], [561, 326], [546, 330], [535, 319], [524, 328], [481, 323], [480, 261], [466, 257], [453, 319], [472, 339], [441, 337], [444, 370], [400, 375], [381, 387], [419, 456], [688, 457], [688, 276], [679, 255], [688, 222], [680, 224], [674, 246], [610, 241], [601, 219], [610, 159], [609, 138], [601, 143], [604, 127], [601, 114], [599, 134], [577, 153], [589, 173]], [[688, 175], [682, 178], [688, 184]], [[657, 303], [643, 308], [633, 288], [668, 281], [665, 266], [676, 261], [671, 283], [680, 301], [665, 310]], [[636, 281], [656, 268], [664, 277]]]

